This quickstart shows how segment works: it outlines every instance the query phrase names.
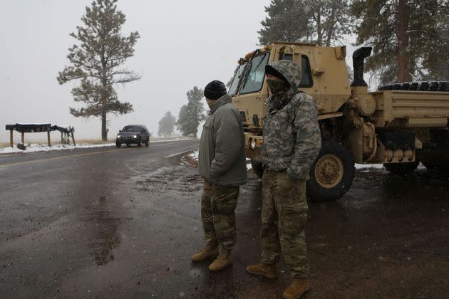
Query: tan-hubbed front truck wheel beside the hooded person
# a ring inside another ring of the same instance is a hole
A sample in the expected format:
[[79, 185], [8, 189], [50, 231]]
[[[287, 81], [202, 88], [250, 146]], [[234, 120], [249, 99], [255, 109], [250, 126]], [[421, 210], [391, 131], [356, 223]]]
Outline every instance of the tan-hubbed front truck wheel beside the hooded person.
[[354, 172], [351, 152], [339, 142], [324, 139], [309, 172], [307, 196], [312, 201], [336, 201], [351, 188]]

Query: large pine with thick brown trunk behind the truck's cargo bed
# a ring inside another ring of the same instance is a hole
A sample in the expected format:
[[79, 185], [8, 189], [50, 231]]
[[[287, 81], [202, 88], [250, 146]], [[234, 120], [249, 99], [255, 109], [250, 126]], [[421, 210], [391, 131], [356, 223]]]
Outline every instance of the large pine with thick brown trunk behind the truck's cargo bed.
[[449, 3], [445, 0], [356, 0], [357, 43], [373, 53], [366, 70], [381, 84], [449, 78]]

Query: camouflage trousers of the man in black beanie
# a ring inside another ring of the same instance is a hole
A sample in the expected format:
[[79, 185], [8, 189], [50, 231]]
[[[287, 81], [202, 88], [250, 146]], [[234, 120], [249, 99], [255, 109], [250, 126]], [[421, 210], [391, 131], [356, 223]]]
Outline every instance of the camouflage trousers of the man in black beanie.
[[236, 238], [234, 211], [238, 196], [238, 186], [217, 186], [205, 179], [201, 218], [206, 246], [214, 248], [220, 244], [225, 251], [232, 251]]

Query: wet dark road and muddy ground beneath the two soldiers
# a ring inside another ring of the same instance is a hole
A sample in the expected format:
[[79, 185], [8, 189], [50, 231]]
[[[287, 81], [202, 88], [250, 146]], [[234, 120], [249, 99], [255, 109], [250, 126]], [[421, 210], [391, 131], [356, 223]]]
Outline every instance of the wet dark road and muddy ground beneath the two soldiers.
[[[261, 182], [237, 206], [234, 264], [192, 265], [203, 246], [202, 181], [149, 148], [0, 155], [0, 297], [279, 298], [289, 284], [245, 273], [259, 261]], [[6, 165], [6, 166], [5, 166]], [[448, 298], [449, 184], [360, 171], [336, 203], [309, 204], [306, 298]]]

